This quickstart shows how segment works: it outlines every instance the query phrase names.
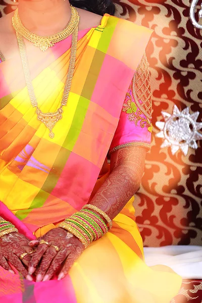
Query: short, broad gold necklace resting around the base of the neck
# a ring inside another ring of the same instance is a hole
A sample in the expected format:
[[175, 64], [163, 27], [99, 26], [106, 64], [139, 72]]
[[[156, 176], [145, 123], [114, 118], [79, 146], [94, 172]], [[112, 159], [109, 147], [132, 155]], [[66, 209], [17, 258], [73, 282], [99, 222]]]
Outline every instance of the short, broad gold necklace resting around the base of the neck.
[[18, 13], [18, 8], [15, 10], [14, 16], [12, 17], [12, 24], [17, 33], [19, 33], [28, 41], [32, 42], [34, 46], [39, 47], [42, 52], [45, 52], [49, 47], [52, 47], [57, 42], [66, 39], [75, 31], [76, 27], [78, 27], [79, 24], [79, 15], [77, 10], [71, 6], [71, 18], [67, 26], [62, 31], [48, 36], [40, 36], [30, 32], [22, 24]]

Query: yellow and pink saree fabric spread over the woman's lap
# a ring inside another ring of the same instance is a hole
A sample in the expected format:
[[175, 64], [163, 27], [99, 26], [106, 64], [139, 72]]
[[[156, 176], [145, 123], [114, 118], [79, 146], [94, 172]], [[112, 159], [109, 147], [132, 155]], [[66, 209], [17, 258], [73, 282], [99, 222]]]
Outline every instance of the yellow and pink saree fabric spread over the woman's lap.
[[126, 212], [114, 219], [110, 232], [83, 251], [61, 281], [56, 277], [36, 283], [0, 273], [0, 299], [4, 294], [4, 303], [169, 303], [181, 278], [161, 266], [153, 270], [145, 265], [139, 230]]

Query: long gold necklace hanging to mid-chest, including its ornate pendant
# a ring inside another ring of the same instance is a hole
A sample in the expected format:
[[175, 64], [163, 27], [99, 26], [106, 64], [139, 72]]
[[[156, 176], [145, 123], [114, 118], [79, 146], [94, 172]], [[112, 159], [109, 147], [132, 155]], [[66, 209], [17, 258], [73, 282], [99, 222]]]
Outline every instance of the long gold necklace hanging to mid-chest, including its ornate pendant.
[[62, 119], [62, 113], [63, 113], [62, 108], [63, 108], [63, 106], [67, 105], [67, 100], [69, 97], [69, 92], [70, 92], [70, 88], [71, 88], [71, 84], [72, 84], [72, 78], [73, 78], [75, 62], [76, 62], [78, 26], [72, 32], [70, 63], [69, 63], [67, 77], [66, 77], [66, 81], [65, 81], [64, 92], [63, 92], [63, 96], [62, 96], [62, 100], [61, 100], [61, 106], [55, 113], [43, 113], [41, 110], [39, 110], [36, 96], [34, 93], [34, 88], [33, 88], [32, 81], [31, 81], [31, 75], [30, 75], [30, 70], [29, 70], [27, 54], [26, 54], [25, 42], [24, 42], [23, 36], [21, 36], [17, 31], [16, 31], [16, 36], [17, 36], [17, 41], [18, 41], [19, 50], [20, 50], [20, 56], [21, 56], [22, 67], [23, 67], [23, 72], [24, 72], [24, 76], [25, 76], [25, 82], [27, 85], [31, 104], [32, 104], [33, 108], [36, 108], [36, 114], [37, 114], [38, 120], [40, 120], [49, 129], [49, 137], [54, 138], [55, 134], [53, 133], [53, 128], [56, 125], [56, 123]]

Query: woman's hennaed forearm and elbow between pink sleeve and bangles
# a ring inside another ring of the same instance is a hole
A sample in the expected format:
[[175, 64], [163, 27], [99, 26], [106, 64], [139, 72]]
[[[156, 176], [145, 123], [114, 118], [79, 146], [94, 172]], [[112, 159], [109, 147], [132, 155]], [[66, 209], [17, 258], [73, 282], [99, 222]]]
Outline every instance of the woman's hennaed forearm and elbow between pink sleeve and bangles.
[[139, 188], [144, 170], [145, 149], [126, 147], [111, 157], [112, 172], [96, 192], [90, 204], [114, 219]]

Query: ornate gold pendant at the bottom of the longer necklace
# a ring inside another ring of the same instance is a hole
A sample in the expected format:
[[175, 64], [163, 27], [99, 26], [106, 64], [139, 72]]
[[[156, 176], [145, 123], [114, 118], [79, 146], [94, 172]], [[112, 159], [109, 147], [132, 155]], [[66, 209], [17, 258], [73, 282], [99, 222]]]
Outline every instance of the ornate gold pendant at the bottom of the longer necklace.
[[36, 108], [36, 115], [38, 120], [40, 120], [45, 126], [49, 129], [49, 137], [53, 139], [55, 134], [53, 133], [53, 128], [56, 123], [63, 118], [62, 116], [63, 110], [60, 107], [55, 113], [43, 113], [39, 108]]

